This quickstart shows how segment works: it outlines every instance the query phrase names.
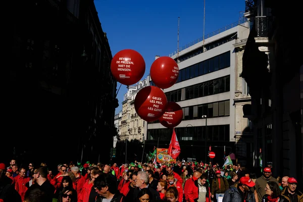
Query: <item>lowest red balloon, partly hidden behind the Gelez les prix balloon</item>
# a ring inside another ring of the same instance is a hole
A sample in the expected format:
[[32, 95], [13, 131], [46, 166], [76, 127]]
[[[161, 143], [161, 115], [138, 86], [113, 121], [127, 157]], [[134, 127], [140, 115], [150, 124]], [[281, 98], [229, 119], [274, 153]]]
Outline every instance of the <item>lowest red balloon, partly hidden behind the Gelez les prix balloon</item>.
[[181, 123], [183, 111], [175, 102], [168, 102], [165, 113], [159, 118], [160, 123], [167, 128], [174, 128]]

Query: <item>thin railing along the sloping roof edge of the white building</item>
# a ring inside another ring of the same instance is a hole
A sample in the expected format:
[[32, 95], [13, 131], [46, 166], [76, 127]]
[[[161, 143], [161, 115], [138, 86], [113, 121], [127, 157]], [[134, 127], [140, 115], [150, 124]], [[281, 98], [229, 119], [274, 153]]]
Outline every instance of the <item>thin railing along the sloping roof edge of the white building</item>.
[[[220, 33], [224, 32], [224, 31], [226, 31], [226, 30], [229, 30], [229, 29], [231, 29], [231, 28], [234, 28], [234, 27], [236, 27], [236, 26], [238, 26], [238, 25], [244, 24], [246, 21], [247, 21], [246, 18], [241, 18], [241, 19], [240, 19], [239, 21], [237, 21], [237, 22], [234, 22], [234, 23], [232, 23], [232, 24], [230, 24], [230, 25], [227, 25], [227, 26], [225, 26], [225, 27], [222, 27], [222, 28], [220, 28], [220, 29], [218, 29], [218, 30], [216, 30], [216, 31], [213, 31], [213, 32], [211, 32], [211, 33], [205, 35], [205, 36], [204, 36], [204, 40], [207, 39], [207, 38], [210, 38], [210, 37], [212, 37], [212, 36], [215, 36], [215, 35], [217, 35], [217, 34], [220, 34]], [[187, 43], [186, 45], [180, 47], [180, 48], [179, 48], [179, 52], [180, 52], [180, 51], [183, 51], [184, 49], [186, 49], [186, 48], [188, 48], [188, 47], [190, 47], [190, 46], [192, 46], [192, 45], [194, 45], [194, 44], [196, 44], [196, 43], [198, 43], [198, 42], [201, 42], [201, 41], [203, 41], [203, 37], [200, 37], [200, 38], [198, 38], [198, 39], [196, 39], [196, 40], [194, 40], [194, 41], [191, 41], [190, 43]], [[176, 55], [177, 53], [178, 53], [178, 50], [175, 51], [175, 52], [173, 52], [172, 54], [170, 54], [169, 57], [172, 57], [173, 55]]]

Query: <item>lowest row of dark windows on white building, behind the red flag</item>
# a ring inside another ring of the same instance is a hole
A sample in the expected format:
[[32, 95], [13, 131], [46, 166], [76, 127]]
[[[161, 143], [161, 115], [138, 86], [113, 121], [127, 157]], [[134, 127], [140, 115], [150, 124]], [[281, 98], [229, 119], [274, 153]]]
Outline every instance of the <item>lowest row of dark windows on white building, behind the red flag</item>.
[[[189, 126], [175, 128], [178, 140], [193, 141], [229, 141], [229, 125]], [[171, 140], [172, 129], [149, 129], [147, 140]]]

